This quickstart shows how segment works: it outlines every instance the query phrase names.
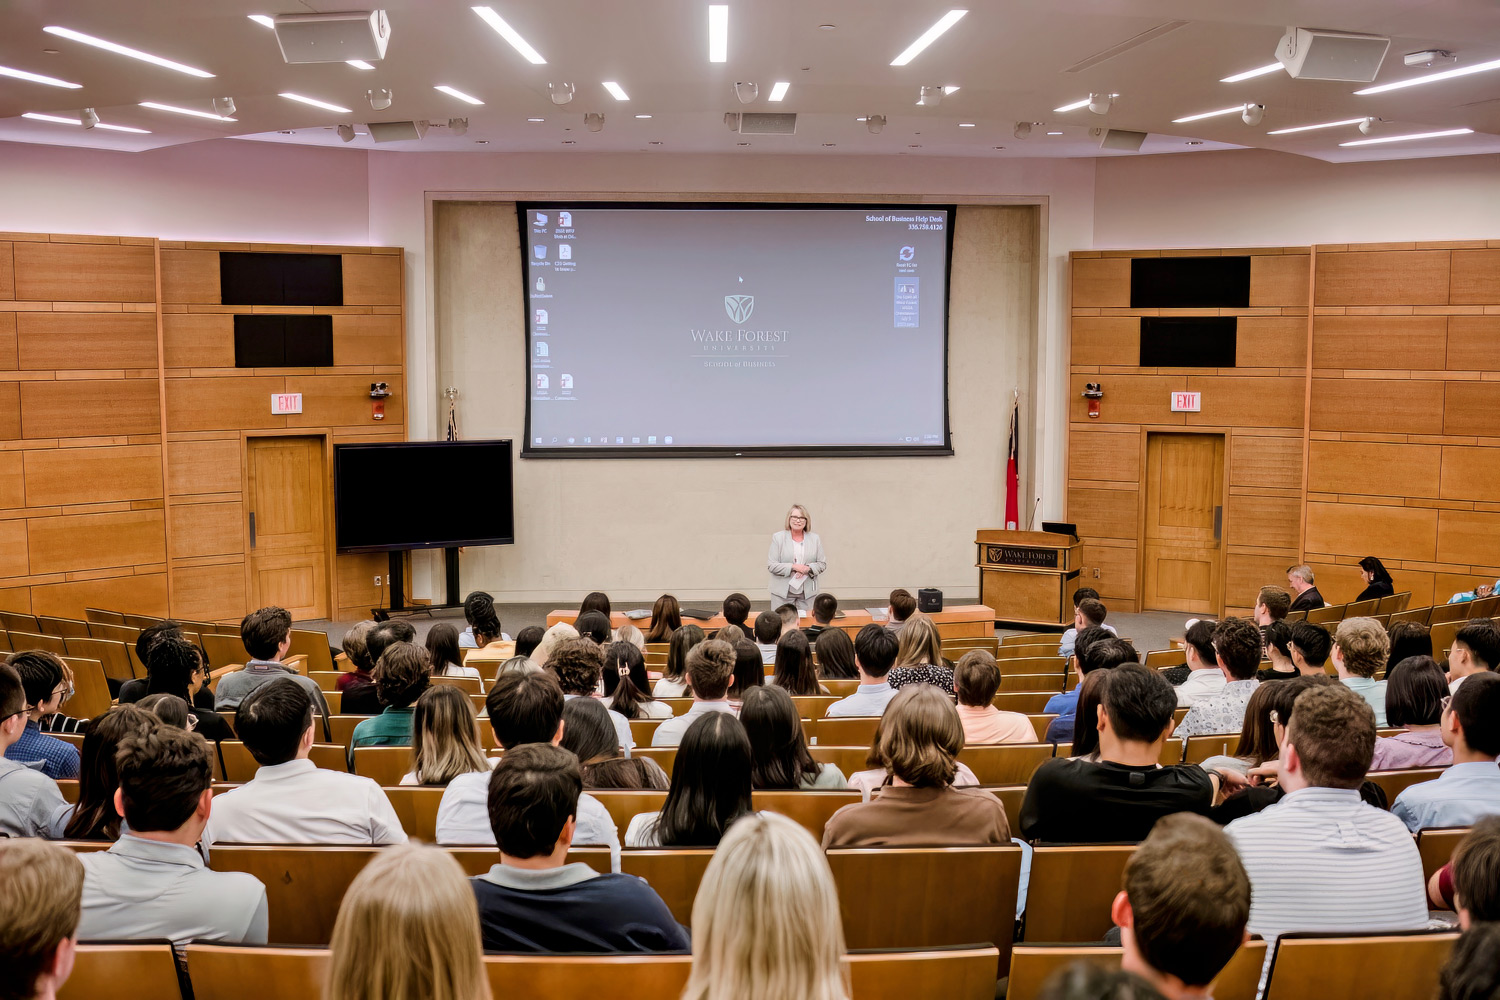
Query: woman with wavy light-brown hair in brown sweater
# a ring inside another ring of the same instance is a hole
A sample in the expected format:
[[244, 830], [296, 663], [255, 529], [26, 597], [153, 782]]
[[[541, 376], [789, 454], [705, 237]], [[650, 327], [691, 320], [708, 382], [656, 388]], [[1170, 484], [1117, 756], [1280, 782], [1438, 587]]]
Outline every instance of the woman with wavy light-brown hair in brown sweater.
[[1010, 843], [1000, 801], [982, 789], [954, 787], [963, 723], [942, 691], [918, 684], [897, 694], [882, 720], [878, 750], [891, 783], [868, 802], [830, 817], [825, 850]]

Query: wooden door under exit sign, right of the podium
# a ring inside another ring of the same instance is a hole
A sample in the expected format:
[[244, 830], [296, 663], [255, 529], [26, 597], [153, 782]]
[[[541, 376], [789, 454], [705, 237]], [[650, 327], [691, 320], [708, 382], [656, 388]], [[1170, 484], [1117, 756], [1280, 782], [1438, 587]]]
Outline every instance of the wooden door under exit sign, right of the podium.
[[1142, 610], [1216, 615], [1224, 592], [1224, 435], [1146, 435]]

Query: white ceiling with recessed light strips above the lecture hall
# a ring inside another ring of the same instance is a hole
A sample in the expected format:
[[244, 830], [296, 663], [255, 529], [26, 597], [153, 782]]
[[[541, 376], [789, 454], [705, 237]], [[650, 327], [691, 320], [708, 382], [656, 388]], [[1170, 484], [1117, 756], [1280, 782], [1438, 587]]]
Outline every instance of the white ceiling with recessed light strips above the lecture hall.
[[[0, 141], [147, 150], [237, 136], [340, 147], [336, 124], [358, 123], [363, 132], [370, 118], [438, 124], [466, 115], [466, 135], [434, 127], [420, 142], [380, 148], [1136, 156], [1098, 148], [1089, 129], [1107, 126], [1149, 132], [1140, 154], [1262, 147], [1324, 160], [1370, 160], [1500, 151], [1500, 72], [1365, 97], [1353, 93], [1359, 84], [1296, 81], [1284, 72], [1218, 82], [1275, 61], [1276, 40], [1290, 24], [1390, 36], [1377, 82], [1436, 72], [1402, 64], [1401, 55], [1418, 49], [1452, 49], [1458, 66], [1500, 58], [1496, 0], [968, 0], [968, 16], [902, 67], [890, 61], [963, 0], [728, 1], [729, 61], [716, 64], [708, 61], [706, 0], [490, 0], [546, 57], [544, 66], [532, 66], [468, 3], [386, 0], [390, 49], [374, 70], [360, 70], [342, 63], [288, 66], [274, 33], [246, 16], [346, 9], [340, 0], [18, 0], [0, 4], [0, 66], [82, 88], [0, 76]], [[1184, 24], [1130, 43], [1173, 21]], [[214, 78], [188, 76], [46, 34], [42, 27], [50, 24], [198, 66]], [[1124, 51], [1095, 61], [1116, 46]], [[1078, 69], [1080, 63], [1088, 67]], [[630, 100], [610, 97], [600, 85], [606, 79], [618, 81]], [[732, 94], [732, 84], [742, 79], [760, 85], [760, 99], [752, 105], [740, 105]], [[786, 100], [768, 103], [771, 84], [782, 79], [792, 84]], [[555, 106], [548, 81], [572, 81], [578, 96]], [[438, 84], [484, 105], [440, 93], [434, 90]], [[920, 108], [918, 87], [924, 84], [960, 90], [939, 106]], [[378, 87], [394, 93], [388, 111], [370, 111], [364, 97]], [[320, 97], [352, 112], [294, 103], [279, 97], [280, 91]], [[1120, 97], [1102, 117], [1086, 108], [1053, 111], [1090, 91]], [[154, 100], [208, 109], [216, 96], [234, 97], [237, 121], [138, 106]], [[1262, 124], [1244, 124], [1239, 115], [1172, 124], [1178, 117], [1246, 102], [1266, 105]], [[84, 106], [96, 108], [105, 123], [150, 129], [150, 135], [86, 132], [20, 117], [26, 111], [78, 117]], [[740, 136], [724, 126], [723, 114], [741, 109], [796, 112], [796, 135]], [[606, 115], [602, 132], [584, 127], [588, 111]], [[652, 117], [638, 120], [638, 114]], [[880, 135], [855, 121], [866, 114], [888, 117]], [[1470, 127], [1474, 135], [1368, 147], [1338, 145], [1364, 138], [1354, 126], [1266, 135], [1365, 115], [1382, 118], [1383, 133]], [[528, 117], [546, 120], [528, 123]], [[1030, 138], [1016, 139], [1017, 121], [1044, 124], [1035, 126]], [[1048, 130], [1062, 135], [1046, 135]], [[374, 148], [368, 135], [351, 145]]]

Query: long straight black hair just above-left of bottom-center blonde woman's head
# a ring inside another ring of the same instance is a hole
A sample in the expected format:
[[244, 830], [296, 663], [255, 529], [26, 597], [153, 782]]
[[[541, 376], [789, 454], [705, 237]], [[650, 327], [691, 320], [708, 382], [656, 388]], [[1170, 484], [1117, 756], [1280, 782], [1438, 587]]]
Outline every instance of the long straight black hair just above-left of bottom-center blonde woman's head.
[[682, 733], [672, 787], [656, 822], [657, 843], [717, 847], [729, 825], [750, 811], [746, 727], [729, 712], [706, 712]]

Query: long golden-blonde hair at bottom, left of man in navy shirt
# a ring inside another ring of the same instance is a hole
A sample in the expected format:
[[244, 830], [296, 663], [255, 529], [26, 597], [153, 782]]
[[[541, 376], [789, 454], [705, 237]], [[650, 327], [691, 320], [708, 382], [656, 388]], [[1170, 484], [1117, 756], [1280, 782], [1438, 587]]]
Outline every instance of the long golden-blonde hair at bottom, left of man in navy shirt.
[[381, 850], [344, 894], [324, 1000], [489, 1000], [474, 891], [446, 850]]

